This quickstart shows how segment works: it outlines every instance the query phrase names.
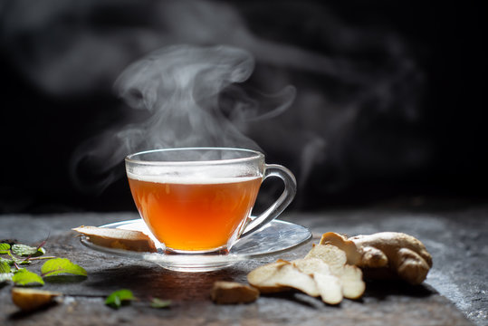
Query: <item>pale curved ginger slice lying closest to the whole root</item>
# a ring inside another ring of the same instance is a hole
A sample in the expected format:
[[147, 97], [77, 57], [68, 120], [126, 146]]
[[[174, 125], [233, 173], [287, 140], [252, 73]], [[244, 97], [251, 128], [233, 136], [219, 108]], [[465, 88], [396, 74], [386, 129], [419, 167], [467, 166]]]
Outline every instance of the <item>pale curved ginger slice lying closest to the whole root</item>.
[[330, 268], [330, 273], [340, 280], [340, 289], [344, 298], [358, 299], [365, 291], [366, 284], [361, 270], [347, 264], [346, 253], [335, 245], [313, 245], [306, 259], [321, 259]]

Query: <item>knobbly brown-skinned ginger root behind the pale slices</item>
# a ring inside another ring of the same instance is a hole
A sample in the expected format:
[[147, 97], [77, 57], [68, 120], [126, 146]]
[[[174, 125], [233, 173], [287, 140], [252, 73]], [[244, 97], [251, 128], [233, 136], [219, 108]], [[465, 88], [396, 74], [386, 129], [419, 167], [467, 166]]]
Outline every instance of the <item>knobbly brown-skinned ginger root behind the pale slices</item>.
[[328, 232], [321, 245], [335, 245], [370, 278], [400, 278], [420, 284], [432, 267], [432, 256], [414, 236], [396, 232], [346, 237]]

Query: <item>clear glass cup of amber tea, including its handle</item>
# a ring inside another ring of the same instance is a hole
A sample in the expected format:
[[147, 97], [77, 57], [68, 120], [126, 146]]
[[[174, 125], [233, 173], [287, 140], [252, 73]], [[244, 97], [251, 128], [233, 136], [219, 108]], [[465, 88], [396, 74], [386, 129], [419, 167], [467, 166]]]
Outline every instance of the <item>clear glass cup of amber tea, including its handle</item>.
[[[266, 164], [250, 149], [156, 149], [125, 159], [139, 214], [167, 254], [226, 254], [290, 205], [292, 172]], [[266, 177], [280, 177], [282, 195], [260, 216], [251, 216]]]

